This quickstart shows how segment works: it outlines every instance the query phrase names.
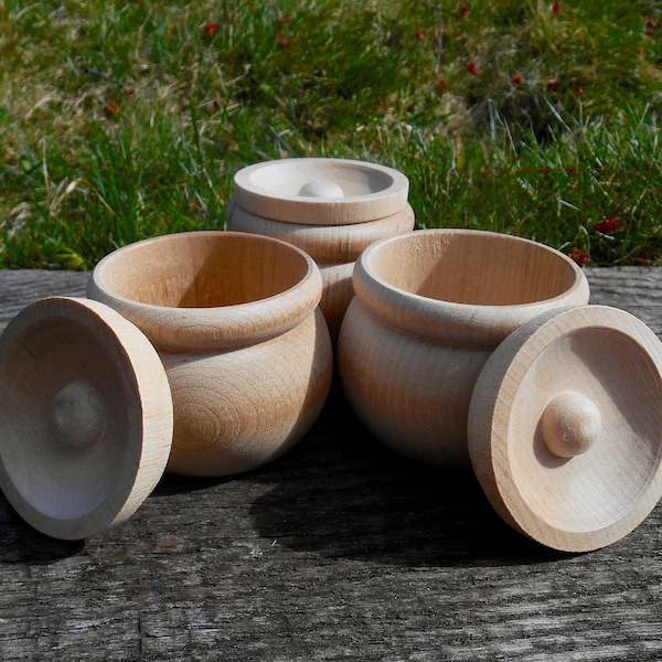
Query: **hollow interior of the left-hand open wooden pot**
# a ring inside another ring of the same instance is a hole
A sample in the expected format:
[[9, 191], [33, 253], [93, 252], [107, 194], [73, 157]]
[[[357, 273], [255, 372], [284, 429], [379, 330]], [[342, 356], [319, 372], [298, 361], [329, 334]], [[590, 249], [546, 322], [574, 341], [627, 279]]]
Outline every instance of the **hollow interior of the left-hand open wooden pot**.
[[104, 285], [141, 303], [173, 308], [235, 306], [279, 295], [310, 271], [282, 242], [238, 233], [182, 233], [111, 254]]

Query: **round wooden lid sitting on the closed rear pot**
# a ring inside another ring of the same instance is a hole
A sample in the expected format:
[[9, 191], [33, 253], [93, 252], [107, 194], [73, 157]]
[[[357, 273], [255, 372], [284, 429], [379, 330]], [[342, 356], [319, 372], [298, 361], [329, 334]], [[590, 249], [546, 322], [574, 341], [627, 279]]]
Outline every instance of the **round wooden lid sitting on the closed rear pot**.
[[349, 225], [391, 216], [407, 203], [409, 180], [386, 166], [348, 159], [281, 159], [234, 178], [247, 212], [288, 223]]

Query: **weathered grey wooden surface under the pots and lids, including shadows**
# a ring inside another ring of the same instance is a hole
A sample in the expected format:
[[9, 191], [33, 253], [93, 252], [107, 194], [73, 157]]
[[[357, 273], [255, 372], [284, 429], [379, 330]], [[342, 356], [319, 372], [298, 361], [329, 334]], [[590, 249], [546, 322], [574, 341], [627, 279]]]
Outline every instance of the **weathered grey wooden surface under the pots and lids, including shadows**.
[[[592, 302], [662, 334], [662, 269], [587, 276]], [[86, 278], [1, 271], [0, 325]], [[609, 547], [547, 551], [472, 473], [396, 457], [334, 394], [274, 465], [168, 476], [84, 543], [38, 534], [0, 499], [0, 659], [660, 660], [661, 525], [658, 505]]]

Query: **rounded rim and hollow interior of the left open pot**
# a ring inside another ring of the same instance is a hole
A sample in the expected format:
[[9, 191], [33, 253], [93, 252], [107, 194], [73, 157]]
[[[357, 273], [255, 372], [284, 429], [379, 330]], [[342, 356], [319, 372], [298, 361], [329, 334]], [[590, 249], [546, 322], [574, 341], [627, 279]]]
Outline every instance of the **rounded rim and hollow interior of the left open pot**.
[[188, 232], [106, 255], [88, 293], [132, 321], [159, 350], [213, 351], [296, 327], [319, 303], [322, 278], [312, 258], [286, 242]]

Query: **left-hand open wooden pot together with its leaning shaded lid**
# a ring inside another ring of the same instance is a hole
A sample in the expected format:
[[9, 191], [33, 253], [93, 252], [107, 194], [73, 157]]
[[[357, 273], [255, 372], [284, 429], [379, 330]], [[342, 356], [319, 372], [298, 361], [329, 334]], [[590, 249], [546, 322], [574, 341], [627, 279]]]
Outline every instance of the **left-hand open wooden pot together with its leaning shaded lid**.
[[163, 471], [228, 476], [291, 448], [333, 360], [310, 256], [191, 232], [99, 261], [87, 299], [53, 297], [0, 335], [0, 487], [42, 533], [126, 520]]

